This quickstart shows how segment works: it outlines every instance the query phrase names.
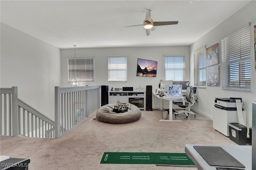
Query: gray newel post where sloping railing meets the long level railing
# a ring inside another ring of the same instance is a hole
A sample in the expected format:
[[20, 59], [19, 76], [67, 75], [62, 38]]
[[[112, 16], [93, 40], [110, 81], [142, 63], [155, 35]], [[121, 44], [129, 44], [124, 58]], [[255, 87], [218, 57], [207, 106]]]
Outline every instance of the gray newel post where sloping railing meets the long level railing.
[[55, 138], [60, 137], [60, 87], [55, 86]]

